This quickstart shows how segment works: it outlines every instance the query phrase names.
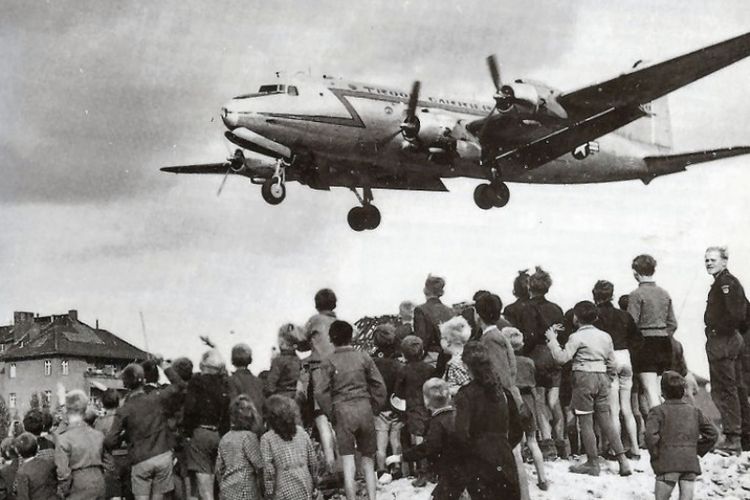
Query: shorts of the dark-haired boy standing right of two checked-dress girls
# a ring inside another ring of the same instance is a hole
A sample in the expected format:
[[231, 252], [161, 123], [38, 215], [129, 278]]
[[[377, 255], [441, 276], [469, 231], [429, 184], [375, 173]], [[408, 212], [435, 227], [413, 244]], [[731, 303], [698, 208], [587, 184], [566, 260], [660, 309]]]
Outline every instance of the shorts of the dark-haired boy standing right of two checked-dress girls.
[[369, 399], [345, 401], [333, 408], [334, 429], [340, 455], [374, 458], [377, 450], [375, 416]]

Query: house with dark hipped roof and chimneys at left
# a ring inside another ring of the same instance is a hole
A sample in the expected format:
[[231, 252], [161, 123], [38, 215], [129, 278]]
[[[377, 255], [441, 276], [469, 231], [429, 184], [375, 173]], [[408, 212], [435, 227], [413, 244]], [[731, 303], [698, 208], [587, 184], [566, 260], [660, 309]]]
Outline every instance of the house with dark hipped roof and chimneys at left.
[[107, 388], [122, 388], [119, 371], [148, 354], [107, 330], [78, 319], [78, 311], [39, 316], [13, 313], [0, 326], [0, 395], [11, 416], [23, 415], [34, 394], [55, 408], [58, 383], [97, 398]]

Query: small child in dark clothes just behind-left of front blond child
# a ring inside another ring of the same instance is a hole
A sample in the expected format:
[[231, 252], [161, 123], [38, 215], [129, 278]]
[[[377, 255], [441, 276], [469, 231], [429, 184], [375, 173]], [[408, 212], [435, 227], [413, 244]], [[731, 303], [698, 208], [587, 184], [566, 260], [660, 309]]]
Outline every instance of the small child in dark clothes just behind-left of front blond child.
[[[396, 382], [396, 397], [406, 401], [406, 429], [411, 436], [411, 444], [418, 445], [427, 432], [430, 414], [424, 405], [422, 387], [435, 375], [435, 368], [422, 361], [424, 350], [422, 339], [409, 335], [401, 341], [401, 352], [406, 358], [406, 366], [401, 370], [401, 378]], [[418, 477], [412, 482], [415, 487], [427, 484], [424, 467], [418, 467]]]

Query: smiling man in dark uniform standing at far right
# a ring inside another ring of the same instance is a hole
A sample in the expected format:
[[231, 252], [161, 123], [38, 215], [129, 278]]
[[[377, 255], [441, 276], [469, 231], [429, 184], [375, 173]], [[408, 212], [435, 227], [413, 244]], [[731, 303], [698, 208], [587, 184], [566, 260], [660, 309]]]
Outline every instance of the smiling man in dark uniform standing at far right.
[[[750, 450], [750, 405], [743, 358], [748, 348], [742, 333], [747, 329], [747, 298], [740, 281], [727, 270], [725, 247], [706, 249], [705, 263], [714, 282], [708, 292], [706, 354], [711, 378], [711, 399], [721, 414], [724, 441], [718, 449], [739, 455]], [[746, 334], [747, 335], [747, 334]], [[746, 365], [747, 366], [747, 365]]]

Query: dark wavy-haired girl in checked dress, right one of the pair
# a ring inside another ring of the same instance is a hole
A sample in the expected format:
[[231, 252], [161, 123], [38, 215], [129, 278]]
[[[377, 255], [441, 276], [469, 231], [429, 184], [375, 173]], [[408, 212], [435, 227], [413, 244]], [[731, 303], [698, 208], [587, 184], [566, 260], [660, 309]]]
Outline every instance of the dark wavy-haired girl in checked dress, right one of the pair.
[[291, 399], [276, 395], [266, 400], [263, 419], [270, 430], [260, 438], [260, 453], [268, 500], [313, 498], [317, 457], [297, 418], [297, 405]]

